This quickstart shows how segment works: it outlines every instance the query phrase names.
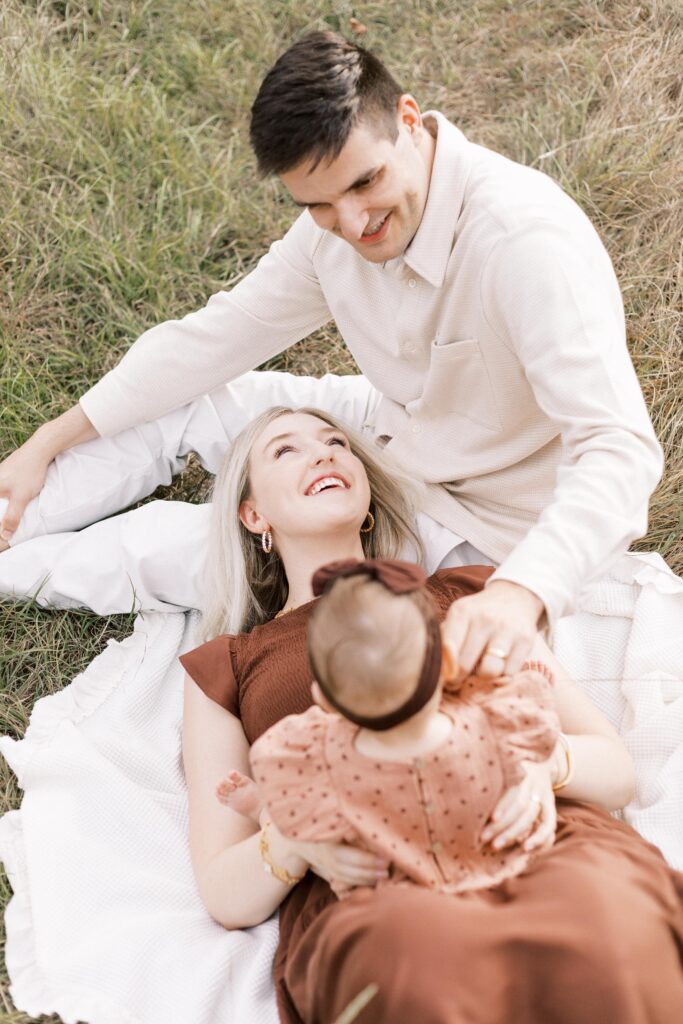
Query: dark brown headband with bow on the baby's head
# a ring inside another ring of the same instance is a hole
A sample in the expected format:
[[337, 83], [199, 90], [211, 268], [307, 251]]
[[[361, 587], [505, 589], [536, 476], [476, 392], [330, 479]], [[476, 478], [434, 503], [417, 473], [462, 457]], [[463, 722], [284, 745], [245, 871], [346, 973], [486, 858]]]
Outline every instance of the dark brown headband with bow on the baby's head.
[[[323, 565], [317, 569], [312, 579], [313, 594], [315, 597], [319, 597], [332, 586], [335, 580], [353, 575], [367, 575], [372, 580], [377, 580], [393, 594], [409, 594], [412, 591], [421, 590], [427, 580], [423, 569], [412, 562], [386, 558], [369, 558], [366, 561], [358, 561], [355, 558], [345, 558], [340, 561], [330, 562], [328, 565]], [[314, 621], [314, 616], [315, 613], [313, 612], [313, 620], [311, 621]], [[365, 729], [375, 729], [378, 732], [392, 729], [395, 725], [400, 725], [401, 722], [405, 722], [409, 718], [412, 718], [413, 715], [417, 715], [436, 691], [441, 671], [441, 634], [436, 615], [428, 615], [425, 625], [427, 627], [425, 655], [415, 690], [408, 700], [404, 700], [399, 708], [389, 712], [387, 715], [356, 715], [354, 712], [350, 712], [347, 708], [344, 708], [334, 694], [330, 692], [323, 673], [317, 671], [309, 643], [308, 658], [313, 670], [313, 675], [332, 707], [343, 715], [344, 718], [347, 718], [350, 722], [354, 722], [355, 725], [359, 725]]]

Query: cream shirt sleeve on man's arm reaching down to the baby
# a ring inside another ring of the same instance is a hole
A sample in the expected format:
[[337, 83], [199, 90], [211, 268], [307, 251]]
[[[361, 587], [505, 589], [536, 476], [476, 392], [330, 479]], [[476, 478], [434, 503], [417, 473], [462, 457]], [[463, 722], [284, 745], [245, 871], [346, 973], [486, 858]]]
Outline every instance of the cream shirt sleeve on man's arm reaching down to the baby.
[[518, 355], [563, 445], [550, 505], [488, 585], [527, 588], [551, 623], [646, 531], [663, 469], [611, 264], [597, 236], [590, 242], [589, 260], [563, 229], [520, 230], [499, 244], [482, 289], [489, 322]]

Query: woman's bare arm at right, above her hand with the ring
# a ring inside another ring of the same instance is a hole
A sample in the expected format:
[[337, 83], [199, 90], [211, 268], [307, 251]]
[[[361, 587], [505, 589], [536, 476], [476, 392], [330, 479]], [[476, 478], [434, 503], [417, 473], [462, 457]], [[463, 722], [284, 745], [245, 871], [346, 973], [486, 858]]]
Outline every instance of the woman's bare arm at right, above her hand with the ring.
[[[618, 733], [577, 686], [540, 636], [529, 659], [543, 662], [555, 676], [555, 705], [562, 731], [567, 734], [573, 764], [571, 780], [559, 795], [588, 800], [608, 811], [625, 807], [633, 798], [636, 771]], [[564, 776], [566, 765], [559, 743], [555, 762], [554, 780], [559, 780]]]

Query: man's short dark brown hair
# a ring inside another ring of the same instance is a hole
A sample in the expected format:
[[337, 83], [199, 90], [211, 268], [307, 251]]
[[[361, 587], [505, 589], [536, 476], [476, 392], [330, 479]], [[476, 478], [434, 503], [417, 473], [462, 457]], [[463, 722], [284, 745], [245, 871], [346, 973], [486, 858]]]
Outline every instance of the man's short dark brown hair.
[[310, 32], [275, 61], [251, 111], [251, 144], [261, 174], [284, 174], [304, 160], [334, 160], [358, 121], [381, 125], [393, 141], [403, 90], [382, 61], [335, 32]]

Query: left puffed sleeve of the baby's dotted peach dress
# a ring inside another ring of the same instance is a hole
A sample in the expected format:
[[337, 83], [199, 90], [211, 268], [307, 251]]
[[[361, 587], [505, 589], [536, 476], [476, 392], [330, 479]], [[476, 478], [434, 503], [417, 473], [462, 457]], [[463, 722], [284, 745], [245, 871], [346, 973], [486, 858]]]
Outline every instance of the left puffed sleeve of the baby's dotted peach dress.
[[250, 760], [270, 816], [283, 835], [306, 843], [350, 841], [325, 757], [327, 715], [309, 708], [288, 715], [252, 745]]

